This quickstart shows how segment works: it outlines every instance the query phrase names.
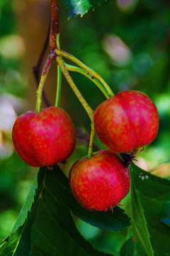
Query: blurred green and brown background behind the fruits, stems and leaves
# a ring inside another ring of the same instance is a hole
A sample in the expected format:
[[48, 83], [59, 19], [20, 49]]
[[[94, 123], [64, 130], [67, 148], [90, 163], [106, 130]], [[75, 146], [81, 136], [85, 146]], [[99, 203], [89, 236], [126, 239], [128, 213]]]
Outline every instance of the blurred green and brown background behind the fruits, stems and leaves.
[[[169, 178], [170, 1], [108, 0], [82, 18], [70, 19], [66, 0], [59, 2], [61, 48], [96, 70], [113, 92], [140, 90], [156, 103], [159, 134], [138, 156], [137, 164]], [[18, 114], [35, 108], [33, 66], [38, 63], [49, 24], [50, 0], [0, 1], [0, 240], [13, 228], [38, 171], [13, 150], [11, 129]], [[52, 63], [45, 82], [52, 105], [56, 70]], [[105, 100], [90, 80], [75, 73], [72, 78], [93, 109]], [[77, 129], [89, 136], [89, 118], [64, 78], [61, 107]], [[101, 146], [97, 138], [95, 142]], [[74, 161], [86, 154], [87, 144], [77, 139], [74, 154], [61, 165], [64, 172], [68, 175]], [[127, 230], [107, 232], [75, 220], [81, 234], [99, 250], [118, 255]]]

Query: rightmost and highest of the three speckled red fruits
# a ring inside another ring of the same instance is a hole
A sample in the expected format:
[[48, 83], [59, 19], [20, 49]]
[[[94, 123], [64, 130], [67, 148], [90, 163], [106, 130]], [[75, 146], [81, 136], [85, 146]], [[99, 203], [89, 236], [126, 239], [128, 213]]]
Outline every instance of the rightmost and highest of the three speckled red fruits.
[[96, 134], [114, 153], [132, 153], [151, 143], [159, 129], [154, 102], [142, 92], [120, 92], [99, 105], [94, 112]]

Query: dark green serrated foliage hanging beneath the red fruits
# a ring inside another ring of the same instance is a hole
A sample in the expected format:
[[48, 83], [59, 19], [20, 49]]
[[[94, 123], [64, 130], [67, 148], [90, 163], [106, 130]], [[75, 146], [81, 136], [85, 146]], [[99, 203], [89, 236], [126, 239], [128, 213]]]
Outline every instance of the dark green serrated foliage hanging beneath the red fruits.
[[[153, 200], [154, 206], [157, 206], [157, 212], [162, 212], [162, 205], [158, 207], [157, 201], [169, 203], [170, 181], [148, 174], [134, 164], [132, 164], [131, 175], [131, 224], [132, 233], [138, 242], [137, 246], [140, 251], [142, 251], [141, 247], [144, 248], [143, 255], [152, 255], [152, 247], [154, 255], [160, 255], [160, 253], [168, 255], [170, 249], [170, 241], [167, 242], [170, 234], [169, 226], [162, 223], [159, 215], [155, 214], [149, 206]], [[116, 207], [113, 213], [100, 213], [90, 212], [79, 206], [69, 189], [67, 177], [58, 166], [55, 166], [53, 170], [40, 169], [38, 189], [33, 202], [33, 191], [35, 192], [35, 187], [37, 187], [36, 181], [35, 177], [33, 188], [26, 198], [21, 210], [22, 214], [19, 215], [13, 232], [1, 245], [1, 255], [6, 255], [7, 252], [10, 252], [9, 255], [20, 255], [21, 252], [23, 253], [23, 245], [27, 245], [25, 255], [29, 255], [30, 252], [33, 252], [34, 255], [37, 249], [42, 255], [48, 255], [51, 247], [54, 247], [54, 252], [52, 252], [54, 255], [57, 255], [58, 250], [61, 255], [66, 253], [64, 250], [67, 250], [67, 255], [72, 255], [73, 247], [74, 250], [77, 248], [77, 255], [80, 251], [84, 255], [95, 255], [97, 252], [79, 235], [71, 212], [87, 223], [102, 229], [121, 230], [130, 225], [128, 216], [119, 207]], [[145, 196], [145, 201], [142, 201], [143, 196]], [[31, 203], [33, 205], [30, 208]], [[127, 250], [127, 247], [135, 246], [135, 239], [130, 238], [125, 242], [121, 253]], [[162, 245], [164, 245], [164, 250]], [[15, 254], [12, 254], [13, 250]]]

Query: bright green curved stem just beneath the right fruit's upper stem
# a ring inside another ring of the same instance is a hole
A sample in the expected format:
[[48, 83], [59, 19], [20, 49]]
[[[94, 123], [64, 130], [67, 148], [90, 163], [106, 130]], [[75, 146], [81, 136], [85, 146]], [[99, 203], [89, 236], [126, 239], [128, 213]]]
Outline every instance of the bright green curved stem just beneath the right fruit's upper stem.
[[108, 95], [108, 92], [106, 91], [105, 87], [103, 87], [101, 82], [98, 82], [98, 80], [96, 80], [96, 78], [91, 78], [90, 75], [88, 75], [83, 69], [81, 69], [79, 67], [76, 67], [74, 65], [69, 65], [67, 63], [64, 63], [64, 65], [66, 66], [67, 70], [80, 73], [80, 74], [86, 76], [86, 78], [89, 78], [92, 82], [94, 82], [95, 85], [97, 85], [97, 87], [101, 90], [101, 92], [103, 92], [103, 95], [106, 96], [106, 99], [108, 99], [110, 97]]

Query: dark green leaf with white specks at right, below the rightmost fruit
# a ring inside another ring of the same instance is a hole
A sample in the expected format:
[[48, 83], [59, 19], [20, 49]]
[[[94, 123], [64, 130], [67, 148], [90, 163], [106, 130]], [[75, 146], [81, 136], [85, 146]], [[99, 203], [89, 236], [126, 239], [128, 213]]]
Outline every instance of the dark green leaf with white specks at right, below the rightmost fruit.
[[140, 202], [146, 212], [170, 222], [170, 181], [132, 165]]

